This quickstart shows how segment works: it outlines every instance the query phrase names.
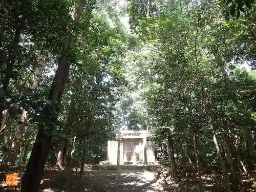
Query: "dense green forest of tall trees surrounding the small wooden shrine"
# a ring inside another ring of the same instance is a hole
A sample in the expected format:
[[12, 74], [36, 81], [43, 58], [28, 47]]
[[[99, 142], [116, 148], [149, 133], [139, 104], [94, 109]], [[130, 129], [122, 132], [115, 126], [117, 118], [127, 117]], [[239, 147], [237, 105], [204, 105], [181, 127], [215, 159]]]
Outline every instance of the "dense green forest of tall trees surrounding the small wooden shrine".
[[54, 166], [79, 192], [113, 130], [148, 130], [178, 191], [256, 191], [253, 0], [0, 0], [0, 60], [3, 191]]

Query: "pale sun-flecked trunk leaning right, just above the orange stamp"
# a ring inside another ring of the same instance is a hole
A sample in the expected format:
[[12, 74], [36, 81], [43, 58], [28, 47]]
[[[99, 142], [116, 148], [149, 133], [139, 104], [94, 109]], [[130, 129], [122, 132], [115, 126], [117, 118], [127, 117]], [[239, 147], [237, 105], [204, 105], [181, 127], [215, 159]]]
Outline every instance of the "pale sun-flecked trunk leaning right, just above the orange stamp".
[[27, 127], [28, 113], [23, 110], [18, 114], [18, 127], [15, 132], [13, 142], [11, 144], [9, 154], [7, 159], [5, 160], [6, 165], [13, 166], [16, 160], [16, 156], [19, 150], [20, 141], [22, 140], [23, 132]]

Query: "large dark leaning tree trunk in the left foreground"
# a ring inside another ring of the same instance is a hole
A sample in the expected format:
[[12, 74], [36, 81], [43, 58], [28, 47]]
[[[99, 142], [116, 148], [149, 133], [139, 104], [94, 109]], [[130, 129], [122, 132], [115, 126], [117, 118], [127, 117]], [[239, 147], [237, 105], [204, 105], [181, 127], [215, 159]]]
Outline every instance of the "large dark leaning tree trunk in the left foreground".
[[[82, 8], [85, 3], [86, 1], [80, 0], [78, 1], [77, 8], [71, 10], [71, 14], [75, 23], [79, 21]], [[70, 49], [73, 47], [74, 40], [74, 37], [68, 37], [66, 39], [65, 50], [68, 52], [70, 51]], [[57, 121], [63, 90], [68, 81], [71, 57], [72, 56], [69, 54], [63, 54], [59, 60], [58, 68], [56, 70], [49, 93], [49, 100], [55, 107], [53, 108], [52, 112], [49, 112], [47, 108], [44, 109], [43, 114], [47, 114], [47, 117], [42, 119], [39, 124], [33, 150], [21, 183], [22, 186], [20, 188], [20, 192], [37, 192], [39, 190], [42, 173], [44, 171], [52, 140], [52, 134], [47, 132], [52, 132], [55, 130], [54, 123]], [[49, 129], [45, 130], [45, 127], [49, 127]]]

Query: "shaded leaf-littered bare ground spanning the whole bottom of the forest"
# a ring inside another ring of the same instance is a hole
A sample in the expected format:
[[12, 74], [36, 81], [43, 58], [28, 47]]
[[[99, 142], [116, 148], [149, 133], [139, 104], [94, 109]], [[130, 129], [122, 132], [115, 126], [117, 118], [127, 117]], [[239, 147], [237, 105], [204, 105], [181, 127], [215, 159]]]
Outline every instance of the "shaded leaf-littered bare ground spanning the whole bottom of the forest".
[[[12, 168], [0, 172], [0, 191], [17, 192], [17, 187], [5, 186], [5, 174], [19, 173], [19, 182], [24, 174], [24, 168]], [[41, 181], [40, 192], [63, 192], [70, 174], [66, 170], [47, 168]], [[222, 191], [210, 176], [204, 176], [205, 191]], [[247, 184], [240, 191], [256, 191], [254, 177], [244, 180]], [[155, 179], [155, 174], [147, 170], [85, 170], [80, 179], [75, 176], [73, 170], [70, 192], [160, 192], [160, 191], [198, 191], [198, 183], [195, 179], [180, 179], [178, 182], [166, 183], [163, 179]]]

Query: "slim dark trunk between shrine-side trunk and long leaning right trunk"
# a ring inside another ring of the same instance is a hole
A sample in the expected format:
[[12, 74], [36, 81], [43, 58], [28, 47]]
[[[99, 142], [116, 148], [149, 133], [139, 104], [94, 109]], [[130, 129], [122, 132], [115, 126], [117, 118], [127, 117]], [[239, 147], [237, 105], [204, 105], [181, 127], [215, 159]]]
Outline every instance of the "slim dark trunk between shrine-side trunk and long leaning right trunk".
[[198, 136], [196, 135], [194, 131], [194, 151], [196, 154], [196, 161], [197, 161], [197, 172], [198, 172], [198, 181], [199, 181], [199, 190], [200, 192], [203, 192], [203, 183], [202, 183], [202, 165], [201, 165], [201, 158], [200, 158], [200, 153], [199, 153], [199, 139]]

